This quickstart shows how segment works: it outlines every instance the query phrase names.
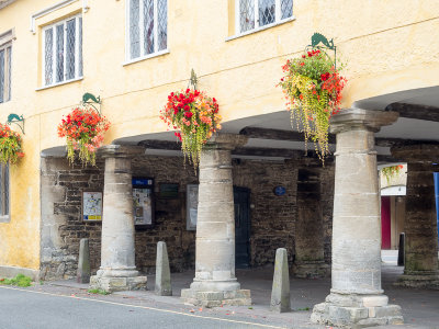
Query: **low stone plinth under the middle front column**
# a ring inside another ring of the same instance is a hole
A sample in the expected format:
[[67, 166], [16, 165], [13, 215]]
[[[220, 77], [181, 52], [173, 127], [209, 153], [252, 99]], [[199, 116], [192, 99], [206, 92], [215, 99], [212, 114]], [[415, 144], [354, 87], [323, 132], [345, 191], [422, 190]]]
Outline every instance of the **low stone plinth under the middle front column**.
[[181, 291], [184, 304], [202, 307], [217, 307], [222, 305], [249, 306], [251, 305], [250, 291], [238, 290], [228, 292], [200, 292], [191, 288]]

